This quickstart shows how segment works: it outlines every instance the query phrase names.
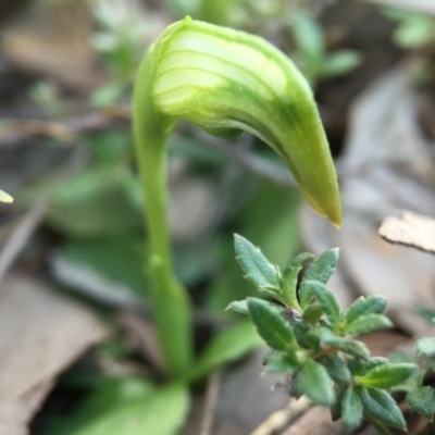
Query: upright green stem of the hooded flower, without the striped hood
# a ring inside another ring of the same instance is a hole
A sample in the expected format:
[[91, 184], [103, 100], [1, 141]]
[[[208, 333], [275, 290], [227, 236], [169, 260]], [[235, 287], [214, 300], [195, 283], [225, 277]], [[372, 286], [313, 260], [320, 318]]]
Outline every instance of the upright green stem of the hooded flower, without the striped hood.
[[152, 102], [158, 62], [151, 47], [139, 67], [133, 101], [133, 129], [147, 209], [151, 296], [154, 321], [166, 369], [183, 377], [191, 363], [191, 307], [173, 273], [166, 213], [166, 157], [171, 122]]

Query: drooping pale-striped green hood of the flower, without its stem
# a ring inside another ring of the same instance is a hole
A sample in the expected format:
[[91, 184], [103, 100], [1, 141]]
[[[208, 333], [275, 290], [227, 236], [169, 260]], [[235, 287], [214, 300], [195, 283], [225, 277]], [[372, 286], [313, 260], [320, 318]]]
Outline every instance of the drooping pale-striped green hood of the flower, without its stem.
[[190, 17], [169, 26], [147, 57], [152, 103], [169, 127], [183, 117], [216, 136], [252, 133], [284, 159], [308, 202], [340, 226], [330, 147], [291, 60], [260, 37]]

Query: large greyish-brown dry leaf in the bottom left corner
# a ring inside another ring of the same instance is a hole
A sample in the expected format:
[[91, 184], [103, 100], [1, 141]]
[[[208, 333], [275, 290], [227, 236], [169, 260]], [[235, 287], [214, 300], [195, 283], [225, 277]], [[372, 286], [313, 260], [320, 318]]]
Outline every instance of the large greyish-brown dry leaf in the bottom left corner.
[[46, 284], [11, 276], [0, 286], [0, 435], [25, 435], [55, 376], [104, 330]]

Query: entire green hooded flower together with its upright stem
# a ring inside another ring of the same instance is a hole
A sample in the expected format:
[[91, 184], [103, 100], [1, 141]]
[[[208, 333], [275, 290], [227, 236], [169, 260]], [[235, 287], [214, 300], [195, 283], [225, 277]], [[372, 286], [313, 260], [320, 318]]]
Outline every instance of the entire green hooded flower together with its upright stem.
[[261, 38], [190, 17], [148, 50], [134, 92], [134, 135], [147, 206], [152, 299], [173, 376], [191, 362], [191, 307], [172, 271], [166, 222], [167, 139], [185, 119], [222, 137], [257, 135], [286, 162], [310, 204], [340, 225], [335, 167], [307, 80]]

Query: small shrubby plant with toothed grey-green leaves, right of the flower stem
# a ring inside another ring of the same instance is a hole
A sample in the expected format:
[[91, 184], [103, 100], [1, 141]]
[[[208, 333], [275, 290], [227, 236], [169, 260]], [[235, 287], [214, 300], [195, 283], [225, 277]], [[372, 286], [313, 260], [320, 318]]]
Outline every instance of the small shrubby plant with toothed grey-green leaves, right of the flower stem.
[[[435, 389], [423, 386], [425, 369], [409, 356], [396, 356], [391, 361], [372, 357], [356, 338], [391, 325], [383, 314], [386, 299], [360, 297], [341, 310], [326, 287], [338, 249], [318, 258], [303, 252], [282, 272], [238, 235], [235, 248], [246, 277], [271, 301], [251, 297], [234, 301], [227, 309], [251, 318], [270, 347], [264, 358], [266, 372], [290, 375], [291, 396], [304, 395], [313, 403], [328, 407], [332, 418], [341, 418], [347, 426], [358, 426], [365, 417], [381, 434], [388, 434], [388, 427], [406, 428], [390, 394], [406, 391], [411, 410], [433, 420]], [[299, 278], [308, 260], [312, 261]], [[434, 323], [433, 313], [425, 311], [424, 315]], [[424, 338], [415, 350], [418, 356], [434, 357], [435, 340]]]

